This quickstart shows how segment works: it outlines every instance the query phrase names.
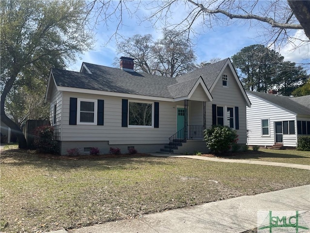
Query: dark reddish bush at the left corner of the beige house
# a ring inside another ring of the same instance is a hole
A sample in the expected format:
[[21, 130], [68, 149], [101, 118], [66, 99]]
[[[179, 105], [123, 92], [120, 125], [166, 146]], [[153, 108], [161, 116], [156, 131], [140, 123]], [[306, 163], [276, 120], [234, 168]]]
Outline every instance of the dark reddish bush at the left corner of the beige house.
[[40, 153], [59, 153], [58, 142], [54, 140], [54, 127], [39, 126], [34, 130], [34, 147]]

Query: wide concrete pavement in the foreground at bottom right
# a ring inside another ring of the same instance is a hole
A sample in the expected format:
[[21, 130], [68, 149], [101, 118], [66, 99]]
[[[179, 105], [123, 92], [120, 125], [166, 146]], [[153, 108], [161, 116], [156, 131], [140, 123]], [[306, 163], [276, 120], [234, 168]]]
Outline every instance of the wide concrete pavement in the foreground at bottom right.
[[241, 233], [257, 227], [258, 211], [270, 210], [298, 210], [310, 227], [310, 185], [107, 222], [70, 233]]

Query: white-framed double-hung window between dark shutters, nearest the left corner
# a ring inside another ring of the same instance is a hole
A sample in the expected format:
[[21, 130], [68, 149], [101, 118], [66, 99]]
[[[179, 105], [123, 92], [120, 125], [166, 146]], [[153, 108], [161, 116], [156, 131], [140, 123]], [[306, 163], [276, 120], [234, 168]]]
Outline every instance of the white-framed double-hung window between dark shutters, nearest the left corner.
[[78, 123], [97, 124], [97, 100], [78, 99]]

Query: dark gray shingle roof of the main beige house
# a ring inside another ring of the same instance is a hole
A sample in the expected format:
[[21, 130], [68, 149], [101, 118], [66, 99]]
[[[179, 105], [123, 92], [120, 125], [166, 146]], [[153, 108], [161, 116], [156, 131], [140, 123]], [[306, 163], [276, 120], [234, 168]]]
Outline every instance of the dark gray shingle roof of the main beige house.
[[91, 74], [51, 69], [58, 86], [119, 92], [143, 96], [178, 98], [187, 96], [200, 76], [209, 89], [227, 59], [194, 70], [180, 77], [170, 78], [120, 68], [83, 63]]

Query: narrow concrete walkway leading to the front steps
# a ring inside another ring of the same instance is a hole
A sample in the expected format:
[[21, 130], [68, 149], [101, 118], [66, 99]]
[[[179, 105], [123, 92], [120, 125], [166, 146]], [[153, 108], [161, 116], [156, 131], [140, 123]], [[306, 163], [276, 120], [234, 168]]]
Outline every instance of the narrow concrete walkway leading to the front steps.
[[164, 154], [164, 153], [150, 153], [154, 156], [163, 156], [163, 157], [177, 157], [177, 158], [188, 158], [188, 159], [200, 159], [213, 162], [222, 162], [222, 163], [239, 163], [239, 164], [258, 164], [258, 165], [267, 165], [267, 166], [284, 166], [292, 167], [298, 169], [310, 170], [310, 165], [302, 164], [286, 164], [286, 163], [276, 163], [276, 162], [266, 162], [266, 161], [257, 161], [249, 159], [222, 159], [222, 158], [212, 158], [198, 155], [179, 155], [179, 154]]

